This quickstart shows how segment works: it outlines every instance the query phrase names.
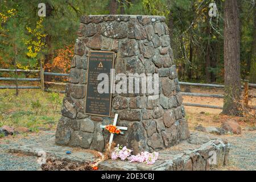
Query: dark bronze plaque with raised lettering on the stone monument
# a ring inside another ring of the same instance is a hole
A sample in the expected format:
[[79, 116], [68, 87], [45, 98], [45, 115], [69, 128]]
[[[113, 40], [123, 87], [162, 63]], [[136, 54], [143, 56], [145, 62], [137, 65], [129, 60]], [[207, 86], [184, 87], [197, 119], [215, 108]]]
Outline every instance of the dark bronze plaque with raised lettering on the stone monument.
[[[110, 92], [110, 69], [114, 68], [114, 52], [89, 51], [85, 113], [110, 117], [112, 94]], [[100, 73], [109, 76], [109, 93], [98, 93], [97, 80]]]

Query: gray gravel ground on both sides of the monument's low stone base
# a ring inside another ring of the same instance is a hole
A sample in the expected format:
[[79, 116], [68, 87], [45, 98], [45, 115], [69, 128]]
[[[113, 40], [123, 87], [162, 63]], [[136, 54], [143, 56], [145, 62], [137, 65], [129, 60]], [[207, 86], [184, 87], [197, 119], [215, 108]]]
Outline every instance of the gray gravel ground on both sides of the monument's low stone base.
[[[20, 144], [34, 144], [53, 137], [52, 131], [29, 134], [28, 137], [7, 137], [0, 139], [0, 171], [2, 170], [38, 170], [40, 165], [35, 156], [10, 154], [7, 150]], [[219, 136], [218, 136], [219, 137]], [[242, 135], [228, 135], [221, 138], [230, 143], [229, 166], [226, 169], [256, 170], [256, 131], [243, 131]]]

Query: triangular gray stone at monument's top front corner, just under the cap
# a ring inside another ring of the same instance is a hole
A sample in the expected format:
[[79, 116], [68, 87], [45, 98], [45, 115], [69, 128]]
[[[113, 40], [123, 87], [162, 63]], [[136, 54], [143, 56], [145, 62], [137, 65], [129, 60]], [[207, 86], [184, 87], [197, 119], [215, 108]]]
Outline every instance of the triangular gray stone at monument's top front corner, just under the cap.
[[137, 40], [146, 39], [146, 32], [136, 18], [130, 19], [128, 23], [128, 38]]

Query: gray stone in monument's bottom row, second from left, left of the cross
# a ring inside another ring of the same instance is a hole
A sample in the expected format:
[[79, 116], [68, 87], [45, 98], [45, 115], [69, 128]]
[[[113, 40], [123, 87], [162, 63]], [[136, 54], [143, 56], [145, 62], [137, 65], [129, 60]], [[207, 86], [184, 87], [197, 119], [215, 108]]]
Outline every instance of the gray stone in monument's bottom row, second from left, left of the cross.
[[89, 148], [92, 143], [93, 134], [84, 131], [73, 131], [69, 144], [71, 146], [80, 146]]

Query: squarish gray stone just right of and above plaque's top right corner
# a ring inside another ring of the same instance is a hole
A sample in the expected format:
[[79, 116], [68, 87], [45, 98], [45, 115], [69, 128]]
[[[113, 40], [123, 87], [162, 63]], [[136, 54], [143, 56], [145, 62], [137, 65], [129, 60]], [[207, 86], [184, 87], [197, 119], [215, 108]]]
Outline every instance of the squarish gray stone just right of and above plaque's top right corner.
[[136, 40], [123, 40], [120, 46], [120, 52], [122, 57], [138, 55], [138, 43]]

